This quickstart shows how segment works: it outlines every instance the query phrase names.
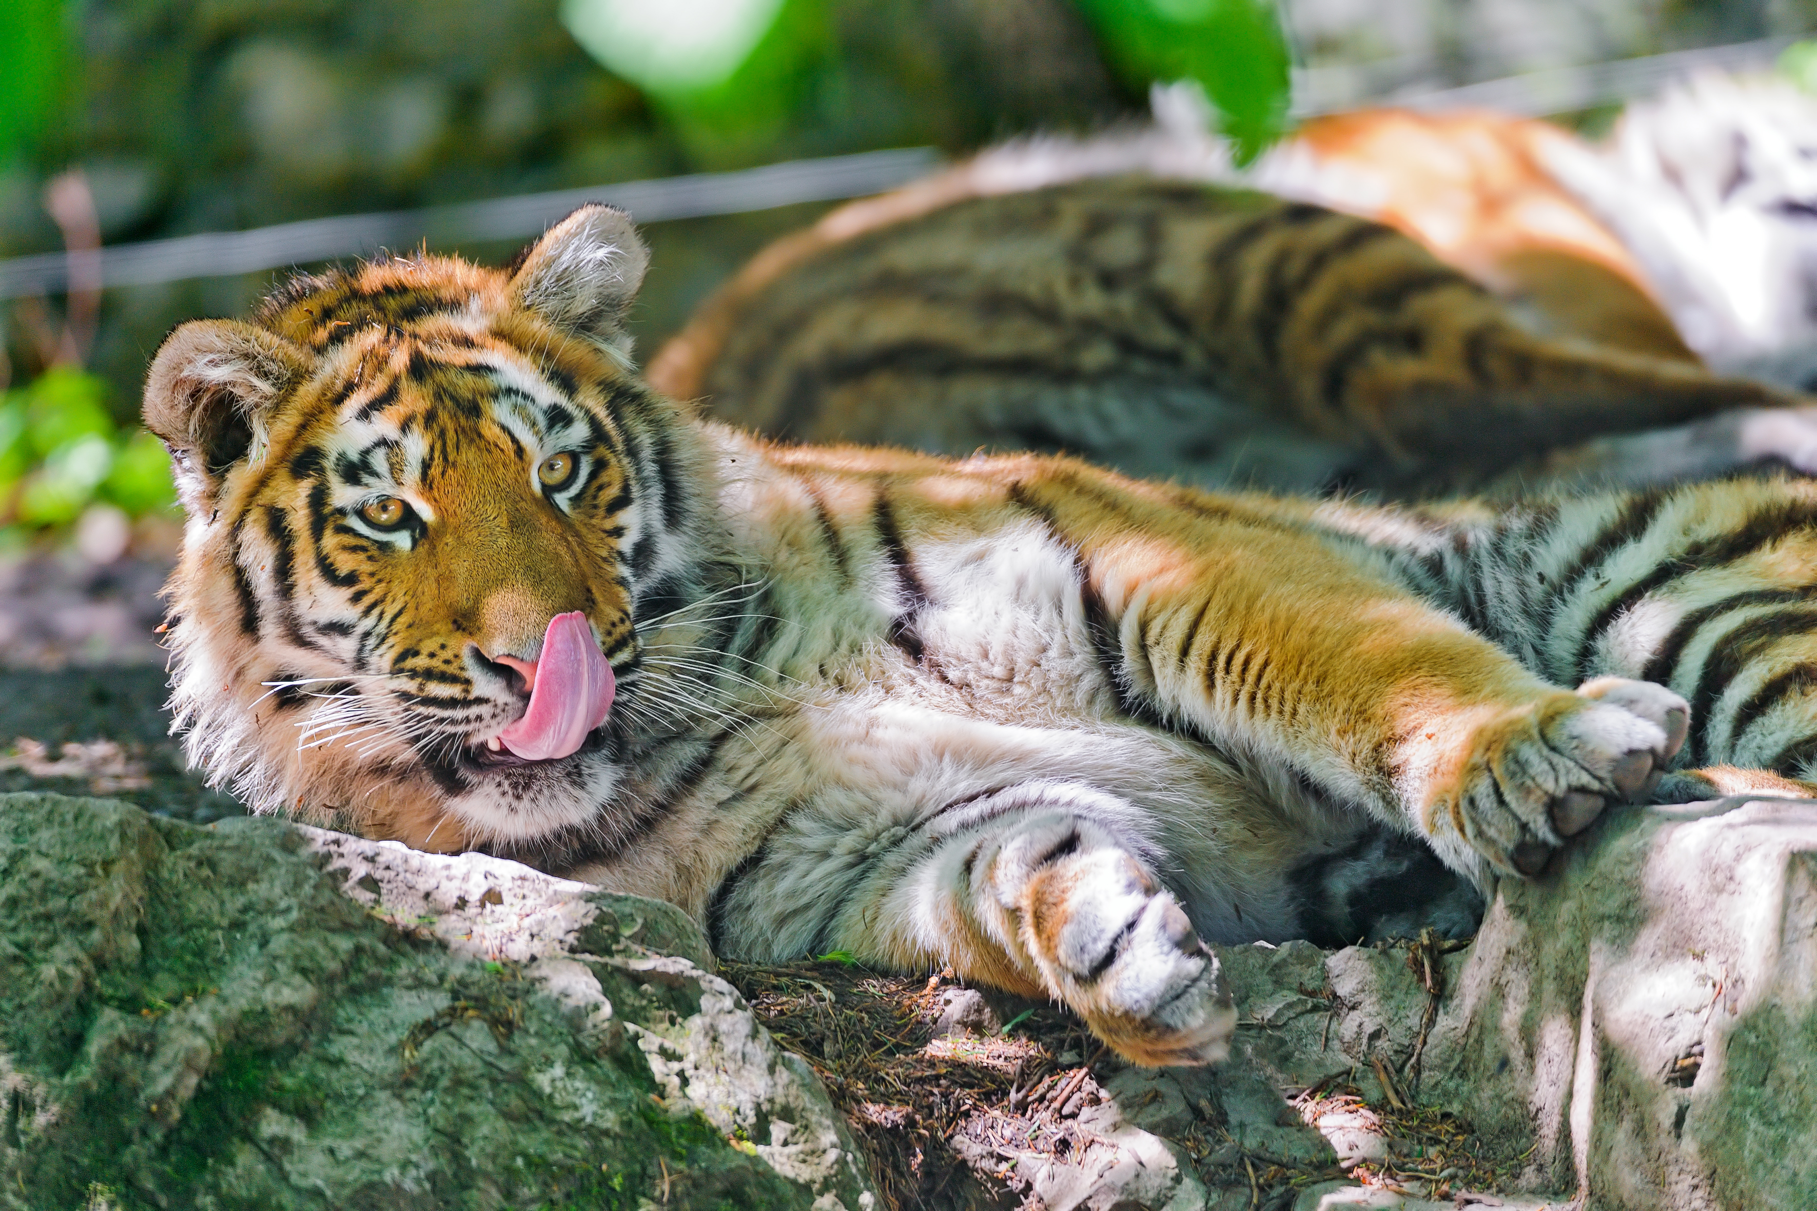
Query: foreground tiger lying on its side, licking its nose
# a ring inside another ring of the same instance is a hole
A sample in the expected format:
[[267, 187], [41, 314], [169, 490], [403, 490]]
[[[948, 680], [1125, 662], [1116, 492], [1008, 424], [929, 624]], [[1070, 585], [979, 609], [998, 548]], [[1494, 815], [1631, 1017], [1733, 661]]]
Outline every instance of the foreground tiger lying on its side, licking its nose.
[[1466, 933], [1610, 804], [1810, 790], [1810, 483], [1392, 508], [774, 445], [632, 372], [645, 260], [589, 207], [171, 334], [193, 761], [1139, 1064], [1225, 1053], [1199, 939]]

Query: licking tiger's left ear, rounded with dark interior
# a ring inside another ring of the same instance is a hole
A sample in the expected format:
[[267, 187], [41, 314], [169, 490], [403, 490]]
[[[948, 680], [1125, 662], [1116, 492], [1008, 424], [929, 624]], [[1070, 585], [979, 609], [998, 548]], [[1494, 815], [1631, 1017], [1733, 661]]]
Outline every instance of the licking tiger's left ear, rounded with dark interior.
[[164, 338], [145, 374], [145, 428], [171, 450], [184, 508], [214, 508], [222, 476], [263, 445], [265, 418], [309, 367], [300, 345], [236, 320], [193, 320]]

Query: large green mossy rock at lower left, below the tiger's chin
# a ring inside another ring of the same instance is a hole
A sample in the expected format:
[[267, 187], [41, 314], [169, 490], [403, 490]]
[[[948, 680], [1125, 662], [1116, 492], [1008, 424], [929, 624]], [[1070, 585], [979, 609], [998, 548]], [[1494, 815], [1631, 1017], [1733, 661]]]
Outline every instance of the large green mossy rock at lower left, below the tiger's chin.
[[870, 1207], [694, 959], [512, 862], [4, 795], [0, 1207]]

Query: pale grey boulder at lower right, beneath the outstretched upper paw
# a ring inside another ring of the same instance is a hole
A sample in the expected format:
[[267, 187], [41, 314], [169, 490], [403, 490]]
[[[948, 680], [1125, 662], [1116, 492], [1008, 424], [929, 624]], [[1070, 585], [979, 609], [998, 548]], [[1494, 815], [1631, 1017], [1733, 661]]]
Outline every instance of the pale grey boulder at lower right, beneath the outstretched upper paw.
[[1592, 1207], [1817, 1202], [1817, 802], [1610, 821], [1506, 884], [1425, 1093]]

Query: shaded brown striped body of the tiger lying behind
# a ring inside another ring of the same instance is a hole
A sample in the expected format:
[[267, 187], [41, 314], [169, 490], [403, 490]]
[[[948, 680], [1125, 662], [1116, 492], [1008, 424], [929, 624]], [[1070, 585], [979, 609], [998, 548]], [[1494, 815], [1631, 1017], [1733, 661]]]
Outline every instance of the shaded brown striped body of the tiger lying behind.
[[1603, 434], [1793, 403], [1535, 336], [1406, 236], [1319, 207], [1148, 176], [959, 200], [938, 185], [760, 256], [652, 381], [801, 441], [1415, 496]]

